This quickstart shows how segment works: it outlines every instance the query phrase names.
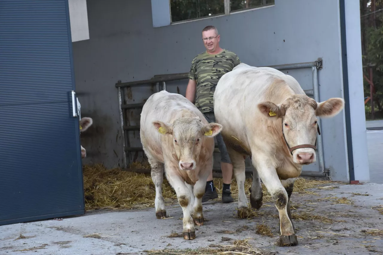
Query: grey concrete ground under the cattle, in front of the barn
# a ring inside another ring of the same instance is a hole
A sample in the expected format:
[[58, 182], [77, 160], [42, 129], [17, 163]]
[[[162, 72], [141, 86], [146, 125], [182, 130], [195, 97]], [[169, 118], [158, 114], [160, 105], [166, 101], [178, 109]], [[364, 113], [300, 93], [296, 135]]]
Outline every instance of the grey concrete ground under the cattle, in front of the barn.
[[[292, 205], [297, 208], [293, 211], [293, 218], [299, 242], [296, 247], [274, 244], [278, 235], [278, 219], [277, 210], [270, 202], [265, 203], [259, 215], [252, 219], [238, 219], [236, 203], [210, 202], [203, 206], [208, 221], [205, 226], [197, 227], [196, 239], [192, 241], [168, 237], [173, 231], [182, 232], [182, 210], [178, 204], [173, 204], [167, 207], [171, 218], [162, 220], [156, 219], [154, 209], [150, 208], [88, 212], [85, 216], [61, 221], [0, 226], [0, 254], [146, 254], [144, 250], [152, 248], [194, 249], [211, 244], [231, 244], [244, 238], [252, 238], [250, 243], [254, 247], [268, 250], [271, 254], [382, 254], [383, 237], [367, 235], [360, 230], [383, 229], [383, 215], [372, 208], [383, 204], [383, 185], [330, 185], [336, 186], [314, 188], [316, 194], [293, 193]], [[341, 204], [336, 202], [342, 197], [348, 200]], [[352, 204], [346, 204], [347, 201], [352, 201]], [[324, 217], [329, 223], [316, 219], [299, 220], [305, 214]], [[273, 237], [255, 233], [257, 224], [262, 222], [271, 227]], [[17, 239], [20, 234], [26, 238]], [[222, 237], [231, 240], [222, 241]]]

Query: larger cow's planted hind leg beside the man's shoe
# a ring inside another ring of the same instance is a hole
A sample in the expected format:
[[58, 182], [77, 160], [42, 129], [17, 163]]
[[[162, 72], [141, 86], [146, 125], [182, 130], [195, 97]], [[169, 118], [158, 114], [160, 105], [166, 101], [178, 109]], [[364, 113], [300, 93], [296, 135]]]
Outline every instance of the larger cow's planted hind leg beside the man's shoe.
[[243, 155], [228, 147], [228, 153], [233, 164], [233, 172], [238, 186], [238, 217], [244, 214], [242, 210], [247, 208], [247, 197], [245, 194], [245, 160]]

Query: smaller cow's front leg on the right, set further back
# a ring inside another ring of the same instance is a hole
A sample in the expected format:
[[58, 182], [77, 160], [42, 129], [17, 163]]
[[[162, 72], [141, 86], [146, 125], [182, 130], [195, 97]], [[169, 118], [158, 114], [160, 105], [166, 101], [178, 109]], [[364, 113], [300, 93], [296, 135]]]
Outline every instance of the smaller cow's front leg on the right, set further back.
[[197, 226], [203, 226], [204, 220], [202, 211], [202, 197], [203, 194], [205, 194], [206, 180], [208, 179], [208, 175], [212, 168], [213, 159], [211, 159], [208, 164], [200, 168], [198, 181], [196, 181], [193, 187], [193, 194], [195, 199], [193, 203], [193, 209], [191, 210], [191, 217], [193, 217], [194, 224]]

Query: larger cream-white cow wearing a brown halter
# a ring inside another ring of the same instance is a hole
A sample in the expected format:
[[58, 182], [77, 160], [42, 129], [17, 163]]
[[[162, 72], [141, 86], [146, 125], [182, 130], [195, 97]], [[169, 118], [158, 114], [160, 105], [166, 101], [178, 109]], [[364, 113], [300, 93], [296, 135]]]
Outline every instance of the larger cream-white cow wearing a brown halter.
[[295, 78], [269, 68], [239, 64], [223, 75], [214, 92], [214, 114], [224, 126], [238, 184], [238, 212], [247, 207], [244, 155], [255, 167], [250, 203], [262, 205], [260, 178], [272, 195], [280, 217], [280, 245], [297, 245], [290, 214], [290, 195], [304, 164], [315, 162], [317, 117], [332, 117], [344, 107], [342, 98], [316, 102]]

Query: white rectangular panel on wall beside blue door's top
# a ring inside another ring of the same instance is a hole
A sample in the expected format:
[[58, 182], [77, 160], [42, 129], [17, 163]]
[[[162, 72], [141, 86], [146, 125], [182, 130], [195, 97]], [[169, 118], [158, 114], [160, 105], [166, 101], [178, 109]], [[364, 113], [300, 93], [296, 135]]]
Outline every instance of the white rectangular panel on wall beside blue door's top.
[[89, 39], [87, 0], [68, 0], [72, 42]]

